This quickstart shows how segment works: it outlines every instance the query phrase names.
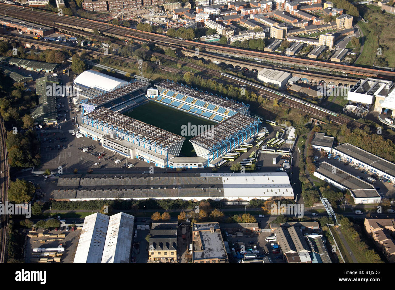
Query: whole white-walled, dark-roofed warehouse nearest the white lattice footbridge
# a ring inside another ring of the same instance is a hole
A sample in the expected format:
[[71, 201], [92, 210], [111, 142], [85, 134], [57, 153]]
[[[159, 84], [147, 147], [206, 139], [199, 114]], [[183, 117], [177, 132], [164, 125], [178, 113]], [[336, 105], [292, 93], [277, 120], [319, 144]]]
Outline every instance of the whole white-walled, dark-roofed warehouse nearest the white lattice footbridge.
[[371, 183], [363, 181], [345, 172], [344, 169], [335, 167], [325, 161], [318, 164], [317, 167], [314, 176], [342, 191], [348, 189], [356, 204], [373, 204], [381, 201], [380, 195]]

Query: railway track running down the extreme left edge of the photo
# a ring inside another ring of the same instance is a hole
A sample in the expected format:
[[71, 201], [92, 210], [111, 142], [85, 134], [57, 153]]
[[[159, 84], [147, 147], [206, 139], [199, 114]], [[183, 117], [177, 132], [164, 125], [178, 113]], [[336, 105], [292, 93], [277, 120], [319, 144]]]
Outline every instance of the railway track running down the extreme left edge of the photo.
[[[9, 168], [8, 168], [8, 156], [6, 148], [6, 130], [4, 123], [0, 117], [0, 168], [1, 168], [1, 193], [2, 200], [4, 203], [8, 201], [8, 179], [9, 179]], [[5, 263], [7, 259], [7, 232], [8, 232], [8, 215], [0, 215], [1, 219], [1, 245], [0, 245], [0, 263]]]

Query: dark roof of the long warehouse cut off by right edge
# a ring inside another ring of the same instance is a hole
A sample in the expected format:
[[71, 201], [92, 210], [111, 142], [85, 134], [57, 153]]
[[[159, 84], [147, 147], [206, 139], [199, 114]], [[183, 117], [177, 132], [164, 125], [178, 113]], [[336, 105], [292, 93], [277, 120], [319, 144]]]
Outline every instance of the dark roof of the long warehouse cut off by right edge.
[[387, 174], [395, 178], [394, 163], [391, 163], [381, 157], [378, 157], [372, 153], [362, 150], [361, 148], [358, 148], [349, 143], [341, 144], [333, 149], [336, 149], [339, 152], [342, 152], [346, 155], [349, 155], [350, 157], [353, 157], [354, 159], [357, 159], [365, 164], [368, 164], [371, 167], [376, 168], [377, 170], [386, 172]]

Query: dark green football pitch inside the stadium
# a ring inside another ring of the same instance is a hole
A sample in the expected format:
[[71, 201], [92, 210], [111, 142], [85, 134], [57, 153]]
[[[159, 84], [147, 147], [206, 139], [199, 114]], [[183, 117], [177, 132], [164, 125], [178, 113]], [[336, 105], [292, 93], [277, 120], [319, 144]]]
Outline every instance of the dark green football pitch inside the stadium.
[[[216, 122], [211, 122], [207, 119], [184, 113], [181, 110], [173, 109], [167, 105], [161, 105], [157, 101], [150, 101], [145, 105], [141, 105], [135, 108], [132, 112], [128, 112], [126, 115], [179, 136], [181, 136], [181, 126], [188, 126], [188, 123], [191, 123], [191, 125], [216, 124]], [[183, 137], [185, 137], [185, 141], [184, 144], [182, 144], [180, 155], [196, 156], [192, 143], [189, 142], [189, 139], [194, 136]]]

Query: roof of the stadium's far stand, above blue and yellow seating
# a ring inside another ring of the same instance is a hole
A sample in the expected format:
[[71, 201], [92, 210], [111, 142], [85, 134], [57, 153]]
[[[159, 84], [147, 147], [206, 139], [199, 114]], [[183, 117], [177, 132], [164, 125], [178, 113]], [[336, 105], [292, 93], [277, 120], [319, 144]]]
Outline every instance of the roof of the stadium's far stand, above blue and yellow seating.
[[164, 80], [155, 84], [156, 87], [161, 87], [173, 92], [179, 92], [183, 95], [193, 97], [213, 105], [218, 105], [227, 109], [235, 110], [236, 112], [244, 109], [244, 107], [249, 107], [244, 103], [239, 103], [238, 101], [233, 101], [233, 99], [228, 99], [227, 97], [222, 97], [218, 95], [213, 95], [207, 91], [199, 90], [198, 88], [193, 88], [192, 86], [184, 85], [179, 82], [173, 82], [169, 80]]

